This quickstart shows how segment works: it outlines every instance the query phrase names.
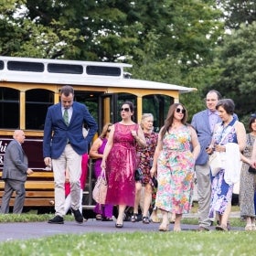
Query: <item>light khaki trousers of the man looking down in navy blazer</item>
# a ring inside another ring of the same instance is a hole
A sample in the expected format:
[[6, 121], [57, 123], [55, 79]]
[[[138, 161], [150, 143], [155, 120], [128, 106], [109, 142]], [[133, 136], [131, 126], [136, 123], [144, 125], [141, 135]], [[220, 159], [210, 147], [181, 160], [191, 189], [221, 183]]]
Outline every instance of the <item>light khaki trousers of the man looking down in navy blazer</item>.
[[52, 159], [55, 184], [55, 215], [65, 215], [65, 170], [69, 168], [71, 208], [80, 208], [81, 155], [67, 144], [58, 159]]

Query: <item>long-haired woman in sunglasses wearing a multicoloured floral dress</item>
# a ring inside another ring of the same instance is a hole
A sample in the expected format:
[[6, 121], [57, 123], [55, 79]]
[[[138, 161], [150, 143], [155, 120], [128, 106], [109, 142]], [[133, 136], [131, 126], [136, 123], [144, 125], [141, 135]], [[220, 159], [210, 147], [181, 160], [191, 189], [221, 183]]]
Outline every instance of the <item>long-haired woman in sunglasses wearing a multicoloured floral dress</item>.
[[151, 176], [157, 173], [155, 206], [161, 209], [163, 216], [160, 231], [169, 229], [169, 212], [176, 214], [174, 231], [180, 231], [182, 215], [192, 206], [194, 166], [200, 144], [196, 131], [186, 122], [185, 107], [180, 103], [172, 104], [159, 132], [150, 172]]

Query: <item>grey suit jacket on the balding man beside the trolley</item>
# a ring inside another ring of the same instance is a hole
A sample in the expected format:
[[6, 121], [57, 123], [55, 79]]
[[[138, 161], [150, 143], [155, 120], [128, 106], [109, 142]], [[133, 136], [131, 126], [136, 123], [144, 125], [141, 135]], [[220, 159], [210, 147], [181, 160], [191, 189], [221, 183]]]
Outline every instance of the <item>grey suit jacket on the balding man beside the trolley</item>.
[[27, 168], [27, 155], [16, 140], [11, 141], [5, 151], [2, 178], [25, 182], [27, 180]]

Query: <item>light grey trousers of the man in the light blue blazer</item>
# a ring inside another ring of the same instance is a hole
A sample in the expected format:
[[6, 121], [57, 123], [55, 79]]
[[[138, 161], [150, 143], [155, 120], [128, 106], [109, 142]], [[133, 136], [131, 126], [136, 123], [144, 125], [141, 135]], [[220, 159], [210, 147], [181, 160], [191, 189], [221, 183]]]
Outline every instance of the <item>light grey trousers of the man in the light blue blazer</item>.
[[208, 218], [211, 196], [211, 180], [208, 163], [206, 165], [196, 165], [196, 176], [199, 226], [208, 229], [211, 224], [211, 220]]

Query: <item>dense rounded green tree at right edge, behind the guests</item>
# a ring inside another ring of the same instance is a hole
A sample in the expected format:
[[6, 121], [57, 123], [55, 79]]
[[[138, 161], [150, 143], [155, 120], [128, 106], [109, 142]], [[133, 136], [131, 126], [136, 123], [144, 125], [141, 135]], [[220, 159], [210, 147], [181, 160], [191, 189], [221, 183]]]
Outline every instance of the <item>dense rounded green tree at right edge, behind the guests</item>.
[[[255, 112], [256, 22], [240, 26], [224, 38], [212, 67], [220, 74], [212, 87], [236, 103], [236, 112], [243, 117]], [[209, 88], [208, 88], [209, 89]]]

